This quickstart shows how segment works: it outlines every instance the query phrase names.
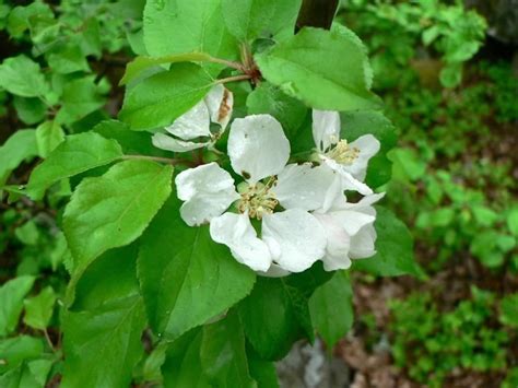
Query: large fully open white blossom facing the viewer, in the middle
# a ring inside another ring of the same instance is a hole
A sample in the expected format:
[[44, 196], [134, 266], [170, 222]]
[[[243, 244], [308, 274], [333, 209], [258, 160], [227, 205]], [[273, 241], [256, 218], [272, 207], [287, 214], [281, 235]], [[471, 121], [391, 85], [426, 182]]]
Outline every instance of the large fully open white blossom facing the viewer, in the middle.
[[[286, 166], [290, 143], [279, 121], [270, 115], [236, 119], [228, 136], [228, 155], [234, 172], [245, 179], [237, 190], [232, 176], [215, 163], [176, 177], [178, 197], [185, 201], [180, 209], [184, 221], [191, 226], [210, 222], [212, 239], [228, 246], [237, 261], [260, 273], [284, 275], [311, 267], [325, 255], [327, 244], [323, 227], [309, 213], [322, 200], [299, 197], [295, 203], [290, 192], [298, 188], [278, 181], [276, 175], [301, 175], [299, 169], [307, 169]], [[319, 179], [311, 173], [311, 183]], [[279, 201], [283, 207], [293, 201], [293, 205], [274, 212]], [[234, 202], [238, 213], [225, 212]], [[260, 221], [260, 237], [250, 219]]]

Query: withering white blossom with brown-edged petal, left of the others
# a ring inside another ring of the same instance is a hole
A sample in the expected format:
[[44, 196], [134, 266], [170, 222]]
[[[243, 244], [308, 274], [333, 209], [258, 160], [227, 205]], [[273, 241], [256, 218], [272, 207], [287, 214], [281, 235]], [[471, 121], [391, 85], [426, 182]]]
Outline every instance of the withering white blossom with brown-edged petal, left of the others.
[[[153, 145], [173, 152], [212, 148], [231, 120], [233, 105], [232, 92], [220, 84], [213, 86], [202, 101], [165, 128], [168, 134], [155, 133]], [[211, 121], [221, 126], [219, 132], [211, 132]]]

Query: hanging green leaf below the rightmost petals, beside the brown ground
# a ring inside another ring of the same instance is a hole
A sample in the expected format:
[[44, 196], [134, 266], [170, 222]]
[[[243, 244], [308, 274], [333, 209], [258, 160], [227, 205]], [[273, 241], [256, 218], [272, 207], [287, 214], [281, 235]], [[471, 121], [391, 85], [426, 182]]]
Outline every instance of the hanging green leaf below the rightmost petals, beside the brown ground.
[[311, 321], [331, 351], [353, 326], [353, 290], [349, 273], [334, 272], [331, 280], [319, 286], [309, 299]]

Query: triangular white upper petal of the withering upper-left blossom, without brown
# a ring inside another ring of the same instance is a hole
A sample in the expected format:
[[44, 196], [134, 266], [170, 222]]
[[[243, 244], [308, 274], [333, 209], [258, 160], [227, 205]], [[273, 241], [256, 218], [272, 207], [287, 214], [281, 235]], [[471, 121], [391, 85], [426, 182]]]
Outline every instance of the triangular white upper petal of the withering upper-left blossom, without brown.
[[209, 109], [202, 99], [190, 110], [178, 117], [165, 130], [183, 140], [211, 136]]

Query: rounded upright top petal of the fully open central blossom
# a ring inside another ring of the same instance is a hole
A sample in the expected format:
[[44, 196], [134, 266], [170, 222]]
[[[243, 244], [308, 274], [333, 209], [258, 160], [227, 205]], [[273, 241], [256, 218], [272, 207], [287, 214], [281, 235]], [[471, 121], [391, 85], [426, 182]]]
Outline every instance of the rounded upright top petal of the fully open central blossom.
[[228, 155], [234, 171], [255, 184], [284, 168], [290, 158], [290, 142], [272, 116], [251, 115], [232, 124]]

